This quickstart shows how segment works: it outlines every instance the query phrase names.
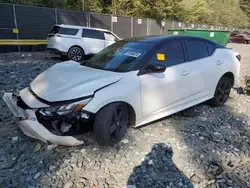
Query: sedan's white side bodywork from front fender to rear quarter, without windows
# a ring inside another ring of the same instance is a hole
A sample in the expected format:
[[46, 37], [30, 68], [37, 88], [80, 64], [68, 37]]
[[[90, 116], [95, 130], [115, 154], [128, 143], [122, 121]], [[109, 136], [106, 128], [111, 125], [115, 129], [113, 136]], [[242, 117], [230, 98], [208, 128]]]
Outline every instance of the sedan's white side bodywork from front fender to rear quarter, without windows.
[[[227, 72], [235, 75], [236, 84], [240, 71], [236, 54], [218, 49], [211, 57], [169, 67], [164, 73], [141, 76], [137, 76], [137, 71], [126, 73], [116, 84], [98, 91], [84, 109], [96, 113], [111, 102], [123, 101], [136, 112], [134, 127], [150, 123], [213, 98], [219, 79]], [[227, 63], [217, 65], [218, 60]], [[140, 95], [137, 87], [141, 89]]]

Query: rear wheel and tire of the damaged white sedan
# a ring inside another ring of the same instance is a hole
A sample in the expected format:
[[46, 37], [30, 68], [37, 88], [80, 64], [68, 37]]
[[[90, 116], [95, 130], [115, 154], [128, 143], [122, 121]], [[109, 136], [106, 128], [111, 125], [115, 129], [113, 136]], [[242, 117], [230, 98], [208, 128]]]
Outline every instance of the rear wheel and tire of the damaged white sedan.
[[214, 97], [209, 101], [209, 104], [214, 107], [221, 107], [228, 100], [232, 89], [232, 80], [223, 76], [215, 89]]

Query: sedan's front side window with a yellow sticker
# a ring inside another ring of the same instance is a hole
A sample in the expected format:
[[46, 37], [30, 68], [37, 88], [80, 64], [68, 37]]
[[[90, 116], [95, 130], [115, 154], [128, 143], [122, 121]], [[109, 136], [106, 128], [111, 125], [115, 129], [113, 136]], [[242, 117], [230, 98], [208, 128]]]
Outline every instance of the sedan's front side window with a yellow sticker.
[[149, 60], [150, 64], [156, 62], [164, 63], [167, 67], [184, 63], [185, 58], [181, 41], [176, 40], [161, 46]]

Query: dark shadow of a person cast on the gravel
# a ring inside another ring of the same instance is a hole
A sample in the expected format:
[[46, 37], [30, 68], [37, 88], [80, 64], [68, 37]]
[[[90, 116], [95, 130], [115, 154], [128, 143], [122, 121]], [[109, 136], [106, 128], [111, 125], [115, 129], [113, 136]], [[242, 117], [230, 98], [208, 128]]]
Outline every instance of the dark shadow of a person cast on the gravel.
[[182, 187], [193, 188], [191, 181], [176, 167], [173, 150], [164, 143], [154, 144], [141, 165], [134, 168], [128, 185], [136, 188]]

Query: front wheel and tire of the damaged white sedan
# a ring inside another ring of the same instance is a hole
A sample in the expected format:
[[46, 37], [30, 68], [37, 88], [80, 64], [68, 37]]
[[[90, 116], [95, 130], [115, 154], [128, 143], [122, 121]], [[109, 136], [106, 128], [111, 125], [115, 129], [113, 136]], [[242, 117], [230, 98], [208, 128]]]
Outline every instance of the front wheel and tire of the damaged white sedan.
[[111, 103], [99, 110], [94, 122], [97, 143], [101, 146], [112, 146], [121, 141], [129, 125], [128, 115], [128, 108], [122, 103]]

